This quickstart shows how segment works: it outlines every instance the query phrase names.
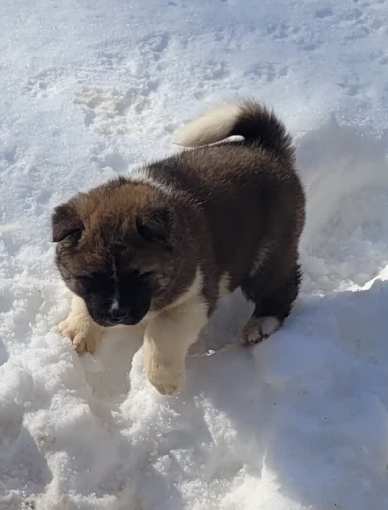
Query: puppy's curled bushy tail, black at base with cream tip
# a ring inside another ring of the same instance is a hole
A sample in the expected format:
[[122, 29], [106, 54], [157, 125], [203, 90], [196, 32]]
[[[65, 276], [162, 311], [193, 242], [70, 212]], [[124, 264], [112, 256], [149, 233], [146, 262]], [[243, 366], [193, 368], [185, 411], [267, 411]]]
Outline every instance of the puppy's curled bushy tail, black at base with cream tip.
[[251, 99], [219, 106], [192, 120], [178, 132], [175, 143], [183, 147], [209, 145], [230, 136], [242, 136], [246, 144], [291, 157], [291, 136], [273, 111]]

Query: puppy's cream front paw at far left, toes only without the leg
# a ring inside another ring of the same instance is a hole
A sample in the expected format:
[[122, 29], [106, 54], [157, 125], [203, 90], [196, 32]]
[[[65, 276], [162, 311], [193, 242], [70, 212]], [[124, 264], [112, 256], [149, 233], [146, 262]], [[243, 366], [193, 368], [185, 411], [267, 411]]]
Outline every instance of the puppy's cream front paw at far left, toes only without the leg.
[[92, 323], [91, 319], [75, 319], [69, 317], [58, 324], [58, 330], [63, 337], [70, 338], [78, 354], [82, 352], [93, 353], [101, 340], [102, 330]]

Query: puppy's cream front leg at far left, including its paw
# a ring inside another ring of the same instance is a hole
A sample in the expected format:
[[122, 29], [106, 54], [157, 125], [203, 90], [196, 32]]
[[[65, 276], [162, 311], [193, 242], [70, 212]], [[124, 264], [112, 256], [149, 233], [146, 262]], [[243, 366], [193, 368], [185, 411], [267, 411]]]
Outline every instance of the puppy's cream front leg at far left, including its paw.
[[89, 315], [85, 301], [73, 294], [71, 309], [67, 319], [58, 324], [59, 332], [69, 337], [78, 354], [94, 352], [101, 340], [102, 326], [96, 324]]

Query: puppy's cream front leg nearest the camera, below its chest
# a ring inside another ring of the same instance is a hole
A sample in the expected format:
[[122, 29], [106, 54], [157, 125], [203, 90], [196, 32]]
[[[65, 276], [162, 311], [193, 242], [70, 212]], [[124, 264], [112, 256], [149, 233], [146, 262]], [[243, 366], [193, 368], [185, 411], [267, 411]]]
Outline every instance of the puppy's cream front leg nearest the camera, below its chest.
[[206, 306], [196, 300], [153, 318], [144, 335], [144, 363], [148, 380], [162, 395], [177, 393], [184, 384], [188, 348], [207, 321]]

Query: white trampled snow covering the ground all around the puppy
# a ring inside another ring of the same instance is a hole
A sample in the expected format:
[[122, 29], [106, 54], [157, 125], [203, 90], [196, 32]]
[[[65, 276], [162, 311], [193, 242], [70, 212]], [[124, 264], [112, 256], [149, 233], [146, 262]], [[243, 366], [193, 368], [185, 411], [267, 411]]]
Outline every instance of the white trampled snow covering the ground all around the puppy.
[[[387, 27], [385, 0], [2, 1], [1, 510], [387, 506]], [[235, 95], [295, 138], [303, 288], [251, 350], [226, 298], [162, 397], [135, 332], [57, 334], [50, 214]]]

